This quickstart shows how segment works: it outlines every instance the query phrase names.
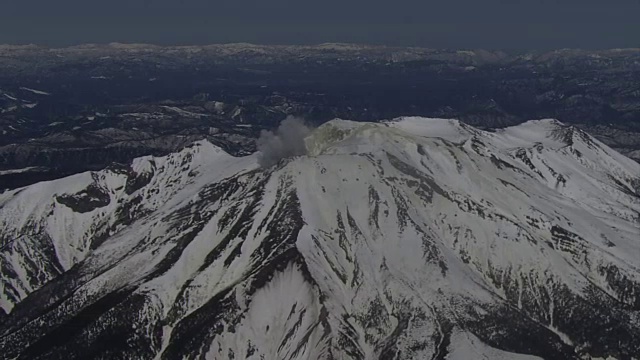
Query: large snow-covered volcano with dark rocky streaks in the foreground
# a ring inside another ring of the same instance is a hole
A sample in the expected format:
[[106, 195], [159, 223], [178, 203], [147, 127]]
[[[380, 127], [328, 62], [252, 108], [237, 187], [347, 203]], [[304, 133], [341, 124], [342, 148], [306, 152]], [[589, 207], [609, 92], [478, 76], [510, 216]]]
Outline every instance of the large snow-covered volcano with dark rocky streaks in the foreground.
[[0, 194], [0, 358], [640, 354], [640, 164], [554, 120], [306, 140]]

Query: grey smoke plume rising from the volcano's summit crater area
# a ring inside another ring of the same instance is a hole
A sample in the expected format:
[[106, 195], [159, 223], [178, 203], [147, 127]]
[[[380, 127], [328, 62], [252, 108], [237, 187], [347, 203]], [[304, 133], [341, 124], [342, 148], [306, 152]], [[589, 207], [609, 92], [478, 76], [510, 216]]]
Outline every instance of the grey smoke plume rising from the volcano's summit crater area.
[[260, 166], [269, 167], [280, 159], [306, 154], [304, 138], [312, 130], [303, 119], [293, 116], [282, 120], [275, 132], [262, 130], [256, 143], [260, 151]]

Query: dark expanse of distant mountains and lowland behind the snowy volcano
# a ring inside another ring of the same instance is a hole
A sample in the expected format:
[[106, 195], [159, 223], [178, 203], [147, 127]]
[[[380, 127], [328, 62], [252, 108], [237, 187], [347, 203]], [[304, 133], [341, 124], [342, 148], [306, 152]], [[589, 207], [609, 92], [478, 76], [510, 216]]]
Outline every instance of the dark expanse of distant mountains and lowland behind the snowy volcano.
[[555, 118], [639, 160], [639, 84], [638, 49], [0, 46], [0, 189], [204, 138], [248, 154], [287, 115], [316, 125], [419, 115], [483, 129]]

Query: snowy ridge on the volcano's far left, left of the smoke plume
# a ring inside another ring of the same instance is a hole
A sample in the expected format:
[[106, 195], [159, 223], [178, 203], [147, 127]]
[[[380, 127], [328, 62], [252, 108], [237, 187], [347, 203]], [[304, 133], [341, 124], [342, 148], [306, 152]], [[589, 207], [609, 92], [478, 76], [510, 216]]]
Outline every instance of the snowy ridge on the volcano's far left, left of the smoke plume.
[[[68, 270], [84, 260], [100, 238], [118, 232], [123, 223], [161, 207], [177, 206], [206, 182], [252, 166], [256, 165], [251, 157], [237, 161], [202, 140], [166, 156], [136, 158], [128, 167], [116, 165], [8, 191], [0, 194], [0, 246], [11, 254], [15, 267], [33, 256], [24, 249], [48, 243], [57, 266]], [[37, 261], [32, 265], [40, 266]], [[0, 308], [10, 310], [13, 302], [55, 275], [41, 274], [36, 280], [25, 274], [14, 279], [18, 283], [12, 286], [21, 295], [0, 301]]]

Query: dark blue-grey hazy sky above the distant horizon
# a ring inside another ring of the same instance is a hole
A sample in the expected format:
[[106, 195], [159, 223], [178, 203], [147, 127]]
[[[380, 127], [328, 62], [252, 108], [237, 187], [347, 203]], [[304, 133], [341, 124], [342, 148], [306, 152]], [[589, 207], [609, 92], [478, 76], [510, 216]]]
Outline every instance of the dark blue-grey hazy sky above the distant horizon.
[[640, 0], [0, 0], [0, 43], [640, 47]]

